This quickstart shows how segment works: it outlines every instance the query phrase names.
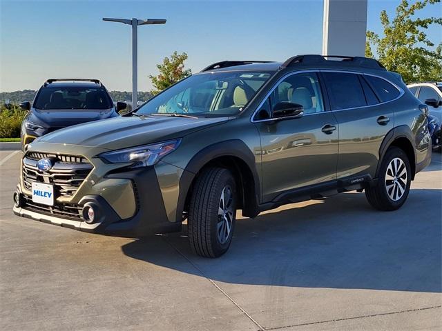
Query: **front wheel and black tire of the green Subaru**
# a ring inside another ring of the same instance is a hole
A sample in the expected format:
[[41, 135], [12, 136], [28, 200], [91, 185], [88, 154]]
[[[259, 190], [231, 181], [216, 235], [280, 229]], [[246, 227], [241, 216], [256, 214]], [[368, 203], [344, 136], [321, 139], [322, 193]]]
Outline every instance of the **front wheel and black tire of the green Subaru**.
[[236, 183], [229, 170], [207, 168], [196, 179], [187, 219], [195, 254], [214, 258], [227, 252], [235, 229], [236, 199]]

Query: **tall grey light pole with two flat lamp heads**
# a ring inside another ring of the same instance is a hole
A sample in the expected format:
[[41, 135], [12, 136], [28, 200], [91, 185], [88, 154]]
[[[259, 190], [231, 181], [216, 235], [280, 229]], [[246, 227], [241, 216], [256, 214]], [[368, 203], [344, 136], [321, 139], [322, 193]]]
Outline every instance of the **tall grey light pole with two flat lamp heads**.
[[137, 75], [138, 75], [138, 64], [137, 64], [137, 28], [138, 26], [144, 26], [146, 24], [164, 24], [165, 19], [110, 19], [103, 18], [103, 21], [119, 22], [132, 26], [132, 109], [138, 106], [138, 87], [137, 87]]

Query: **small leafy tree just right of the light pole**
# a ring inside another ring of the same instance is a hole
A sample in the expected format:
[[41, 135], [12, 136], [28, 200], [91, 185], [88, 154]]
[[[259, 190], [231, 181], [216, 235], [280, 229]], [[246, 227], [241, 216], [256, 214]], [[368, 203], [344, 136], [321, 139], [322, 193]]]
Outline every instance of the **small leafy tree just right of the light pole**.
[[184, 79], [192, 74], [190, 69], [184, 70], [184, 61], [187, 59], [187, 54], [178, 54], [177, 51], [173, 52], [171, 57], [165, 57], [162, 64], [157, 64], [160, 74], [157, 76], [149, 75], [152, 81], [152, 85], [155, 88], [151, 90], [151, 94], [157, 94], [169, 88], [169, 86], [177, 83], [181, 79]]

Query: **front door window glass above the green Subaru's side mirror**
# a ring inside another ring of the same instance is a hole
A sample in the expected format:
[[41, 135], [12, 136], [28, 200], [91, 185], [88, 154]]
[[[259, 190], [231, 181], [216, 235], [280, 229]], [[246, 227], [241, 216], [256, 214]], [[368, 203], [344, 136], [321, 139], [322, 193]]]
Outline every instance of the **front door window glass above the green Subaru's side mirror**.
[[293, 74], [284, 79], [271, 94], [272, 108], [279, 102], [298, 103], [304, 114], [323, 112], [323, 97], [316, 72]]

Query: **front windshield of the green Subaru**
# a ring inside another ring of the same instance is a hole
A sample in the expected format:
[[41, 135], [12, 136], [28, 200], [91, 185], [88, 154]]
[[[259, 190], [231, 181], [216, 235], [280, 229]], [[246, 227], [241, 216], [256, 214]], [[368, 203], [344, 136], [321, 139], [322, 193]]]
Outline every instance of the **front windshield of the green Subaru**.
[[229, 116], [242, 111], [271, 71], [231, 71], [195, 74], [165, 90], [137, 110], [137, 114]]

